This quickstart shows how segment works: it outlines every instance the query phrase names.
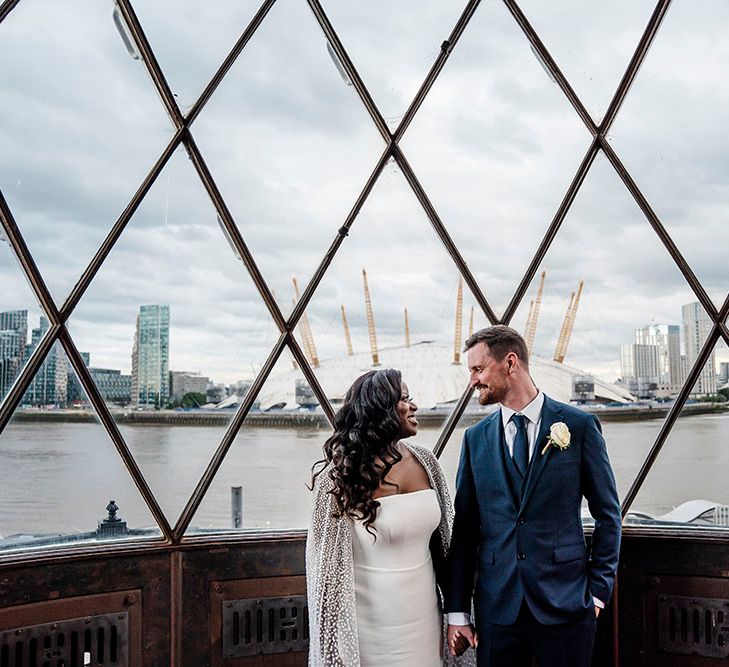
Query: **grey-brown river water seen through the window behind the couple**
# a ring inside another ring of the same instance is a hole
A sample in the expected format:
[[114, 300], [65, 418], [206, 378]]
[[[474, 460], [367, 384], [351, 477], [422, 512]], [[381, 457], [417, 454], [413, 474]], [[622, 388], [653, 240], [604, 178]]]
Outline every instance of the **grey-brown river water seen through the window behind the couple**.
[[[658, 434], [661, 420], [607, 422], [603, 431], [621, 498]], [[463, 428], [441, 457], [451, 488]], [[122, 426], [152, 492], [174, 525], [224, 429]], [[436, 428], [413, 442], [432, 447]], [[196, 513], [194, 529], [231, 526], [230, 488], [242, 486], [243, 528], [303, 528], [310, 510], [309, 470], [328, 430], [244, 428]], [[665, 513], [705, 498], [729, 504], [729, 415], [678, 420], [632, 510]], [[97, 424], [10, 423], [0, 435], [0, 535], [94, 530], [110, 499], [130, 528], [155, 522], [106, 432]]]

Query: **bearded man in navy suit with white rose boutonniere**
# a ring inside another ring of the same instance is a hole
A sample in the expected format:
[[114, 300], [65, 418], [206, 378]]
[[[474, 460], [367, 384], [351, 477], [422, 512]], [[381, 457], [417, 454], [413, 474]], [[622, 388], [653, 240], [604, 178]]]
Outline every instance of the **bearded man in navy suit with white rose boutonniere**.
[[[477, 644], [479, 667], [529, 667], [532, 656], [539, 667], [587, 667], [620, 550], [620, 504], [600, 423], [536, 388], [513, 329], [477, 331], [466, 350], [479, 403], [500, 409], [463, 439], [449, 646]], [[583, 497], [595, 520], [589, 551]]]

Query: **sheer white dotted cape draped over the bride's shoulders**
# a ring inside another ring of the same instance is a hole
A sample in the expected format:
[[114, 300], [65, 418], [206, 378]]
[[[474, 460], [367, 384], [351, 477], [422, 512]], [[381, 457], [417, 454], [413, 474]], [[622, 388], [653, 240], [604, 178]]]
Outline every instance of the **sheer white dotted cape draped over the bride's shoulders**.
[[[438, 532], [445, 555], [450, 544], [453, 509], [443, 471], [430, 450], [406, 446], [428, 473], [430, 485], [438, 496], [441, 511]], [[330, 466], [317, 475], [314, 483], [312, 519], [306, 539], [309, 666], [360, 667], [352, 519], [333, 516], [337, 504], [333, 494], [329, 493], [334, 488], [334, 482], [328, 475]], [[445, 631], [445, 622], [443, 627]], [[445, 632], [443, 647], [444, 665], [475, 665], [475, 653], [471, 649], [460, 658], [453, 658], [446, 651]]]

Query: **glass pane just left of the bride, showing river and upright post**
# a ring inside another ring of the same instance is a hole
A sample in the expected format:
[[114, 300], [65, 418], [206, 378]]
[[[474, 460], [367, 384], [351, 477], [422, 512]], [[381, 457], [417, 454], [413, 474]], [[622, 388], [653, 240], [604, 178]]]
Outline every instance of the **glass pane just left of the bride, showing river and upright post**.
[[[187, 534], [309, 525], [311, 466], [330, 435], [322, 412], [267, 405], [268, 384], [292, 365], [284, 351], [248, 413]], [[238, 490], [236, 490], [238, 489]], [[240, 498], [236, 504], [235, 498]], [[236, 510], [239, 508], [239, 511]]]

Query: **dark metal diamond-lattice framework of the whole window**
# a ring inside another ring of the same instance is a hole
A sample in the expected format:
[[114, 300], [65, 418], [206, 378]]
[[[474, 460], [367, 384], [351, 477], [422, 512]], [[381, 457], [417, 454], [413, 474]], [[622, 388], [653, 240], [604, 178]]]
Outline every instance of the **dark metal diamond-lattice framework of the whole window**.
[[[0, 24], [8, 17], [8, 15], [20, 3], [20, 1], [21, 0], [6, 0], [0, 5]], [[653, 447], [651, 448], [651, 451], [646, 457], [646, 460], [643, 463], [641, 470], [639, 471], [630, 490], [628, 491], [628, 494], [623, 500], [623, 515], [627, 514], [632, 502], [634, 501], [643, 482], [645, 481], [645, 478], [648, 475], [651, 466], [658, 457], [661, 448], [663, 447], [665, 440], [671, 431], [671, 428], [678, 418], [680, 411], [683, 408], [691, 389], [693, 388], [693, 384], [699, 377], [701, 369], [708, 360], [711, 351], [720, 339], [723, 339], [725, 342], [727, 342], [727, 344], [729, 344], [729, 328], [727, 328], [724, 322], [727, 315], [729, 315], [729, 296], [727, 297], [722, 308], [717, 311], [713, 302], [701, 285], [701, 282], [693, 273], [692, 269], [684, 259], [683, 255], [671, 239], [671, 236], [664, 228], [660, 219], [652, 210], [648, 201], [643, 196], [635, 181], [630, 176], [630, 173], [621, 163], [618, 155], [615, 153], [615, 151], [607, 141], [607, 133], [612, 126], [615, 118], [617, 117], [620, 107], [622, 106], [622, 103], [625, 100], [633, 81], [635, 80], [638, 70], [640, 69], [650, 49], [651, 44], [658, 30], [660, 29], [661, 23], [670, 7], [670, 0], [658, 0], [658, 2], [656, 3], [655, 9], [648, 21], [643, 35], [635, 49], [635, 52], [633, 53], [633, 56], [625, 70], [625, 73], [599, 126], [594, 122], [590, 114], [585, 109], [578, 95], [572, 89], [566, 77], [559, 69], [557, 63], [550, 55], [548, 49], [539, 38], [539, 35], [531, 26], [524, 13], [521, 11], [518, 3], [515, 0], [503, 0], [504, 5], [509, 10], [516, 23], [519, 25], [520, 29], [524, 33], [531, 46], [537, 52], [545, 68], [554, 78], [555, 82], [560, 87], [563, 94], [570, 102], [577, 115], [581, 118], [581, 120], [591, 133], [593, 141], [590, 144], [581, 164], [579, 165], [574, 178], [568, 186], [567, 191], [565, 192], [565, 195], [557, 211], [555, 212], [555, 215], [539, 247], [537, 248], [529, 266], [522, 276], [522, 279], [513, 297], [511, 298], [511, 301], [509, 302], [506, 310], [501, 317], [499, 317], [489, 305], [481, 289], [481, 286], [478, 284], [475, 277], [469, 270], [457, 245], [450, 237], [447, 226], [439, 217], [435, 207], [430, 202], [425, 189], [420, 184], [417, 175], [411, 168], [405, 154], [399, 146], [400, 140], [404, 136], [412, 120], [415, 118], [415, 115], [417, 114], [418, 110], [426, 99], [428, 92], [436, 83], [438, 76], [443, 70], [450, 54], [453, 52], [454, 49], [457, 48], [458, 41], [462, 36], [463, 32], [467, 29], [471, 18], [477, 11], [480, 0], [470, 0], [464, 7], [449, 37], [442, 43], [440, 52], [436, 57], [433, 65], [431, 66], [430, 71], [426, 75], [420, 89], [417, 91], [413, 101], [409, 105], [408, 109], [401, 119], [400, 124], [394, 132], [391, 132], [387, 124], [385, 123], [374, 100], [369, 94], [367, 87], [365, 86], [362, 78], [357, 72], [354, 63], [349, 58], [336, 31], [329, 22], [329, 19], [324, 12], [319, 0], [306, 0], [309, 8], [314, 14], [317, 23], [319, 24], [319, 27], [322, 30], [323, 35], [325, 36], [332, 50], [336, 54], [336, 57], [339, 59], [343, 70], [346, 72], [346, 75], [352, 82], [353, 88], [355, 89], [368, 114], [370, 115], [370, 118], [374, 123], [376, 129], [382, 136], [383, 141], [385, 142], [385, 148], [379, 160], [374, 165], [373, 170], [367, 181], [365, 182], [362, 191], [354, 202], [352, 209], [350, 210], [346, 219], [343, 221], [342, 227], [336, 232], [330, 247], [325, 252], [323, 259], [321, 260], [311, 280], [304, 289], [301, 299], [299, 299], [299, 301], [296, 303], [289, 317], [284, 317], [278, 303], [276, 302], [275, 297], [273, 296], [272, 291], [268, 287], [268, 284], [266, 283], [255, 262], [253, 254], [248, 249], [245, 239], [241, 235], [238, 226], [235, 223], [233, 215], [228, 209], [223, 196], [221, 195], [209, 169], [207, 168], [204, 157], [200, 153], [191, 131], [191, 125], [193, 124], [194, 120], [202, 112], [205, 104], [213, 95], [214, 91], [223, 80], [227, 72], [231, 69], [238, 56], [245, 49], [246, 45], [249, 43], [251, 37], [255, 34], [258, 27], [265, 20], [268, 12], [273, 7], [275, 2], [276, 0], [265, 0], [263, 2], [258, 12], [251, 19], [248, 26], [243, 31], [241, 37], [238, 39], [228, 56], [223, 61], [222, 65], [219, 67], [206, 88], [201, 93], [198, 100], [192, 105], [187, 115], [184, 115], [180, 111], [180, 108], [175, 101], [174, 95], [172, 94], [167, 80], [165, 79], [164, 73], [162, 72], [159, 63], [156, 60], [154, 51], [149, 44], [144, 30], [136, 16], [132, 5], [132, 0], [118, 0], [118, 6], [124, 18], [124, 21], [129, 28], [131, 37], [137, 49], [142, 55], [144, 66], [147, 68], [147, 71], [152, 78], [154, 86], [157, 89], [157, 92], [162, 99], [167, 113], [173, 123], [173, 126], [175, 128], [175, 134], [156, 161], [156, 163], [150, 169], [148, 175], [140, 184], [136, 193], [133, 195], [129, 204], [110, 230], [106, 239], [99, 247], [96, 255], [79, 278], [78, 282], [74, 286], [69, 296], [66, 298], [60, 310], [57, 308], [55, 302], [53, 301], [53, 298], [50, 295], [50, 292], [43, 280], [43, 277], [33, 260], [32, 254], [22, 237], [20, 230], [18, 229], [12, 212], [10, 211], [7, 202], [2, 196], [2, 192], [0, 191], [0, 224], [2, 224], [2, 227], [6, 232], [9, 244], [14, 254], [17, 256], [23, 272], [29, 280], [36, 298], [38, 299], [43, 311], [48, 316], [51, 323], [48, 333], [39, 343], [30, 360], [26, 363], [25, 367], [20, 373], [14, 386], [11, 388], [11, 391], [9, 392], [3, 403], [0, 405], [0, 433], [10, 421], [14, 410], [18, 406], [19, 402], [22, 400], [22, 396], [25, 390], [32, 381], [35, 373], [38, 371], [45, 356], [50, 351], [51, 347], [55, 344], [55, 342], [60, 341], [71, 361], [71, 364], [76, 374], [78, 375], [84, 387], [84, 390], [89, 397], [89, 400], [91, 401], [94, 409], [99, 415], [102, 425], [108, 432], [109, 437], [111, 438], [112, 442], [117, 448], [117, 451], [122, 457], [122, 460], [126, 465], [130, 476], [133, 478], [142, 497], [147, 503], [150, 512], [154, 516], [155, 520], [158, 522], [159, 527], [165, 538], [165, 542], [167, 544], [177, 545], [183, 540], [185, 530], [189, 526], [190, 521], [192, 520], [195, 512], [202, 502], [205, 493], [209, 489], [213, 478], [215, 477], [220, 466], [222, 465], [223, 460], [225, 459], [225, 456], [230, 449], [230, 446], [232, 445], [235, 436], [237, 435], [240, 428], [243, 426], [246, 416], [248, 415], [248, 412], [251, 409], [255, 398], [262, 389], [271, 370], [273, 369], [274, 365], [276, 364], [286, 347], [290, 349], [296, 362], [301, 367], [302, 372], [304, 373], [304, 376], [309, 383], [313, 393], [319, 400], [325, 415], [330, 422], [332, 421], [334, 415], [333, 408], [329, 403], [322, 387], [320, 386], [315, 372], [309, 365], [308, 360], [306, 359], [298, 342], [296, 341], [294, 337], [294, 331], [311, 298], [313, 297], [319, 283], [321, 282], [329, 265], [331, 264], [332, 259], [338, 252], [341, 245], [344, 243], [352, 225], [359, 215], [362, 206], [372, 192], [375, 183], [377, 182], [388, 161], [394, 159], [399, 166], [413, 193], [423, 207], [423, 210], [428, 217], [428, 220], [430, 221], [432, 227], [434, 228], [437, 236], [440, 238], [444, 249], [450, 255], [460, 275], [464, 278], [485, 316], [492, 324], [508, 324], [514, 316], [519, 304], [523, 300], [529, 288], [529, 285], [534, 279], [534, 276], [536, 275], [539, 266], [544, 260], [544, 257], [549, 250], [555, 236], [559, 232], [562, 222], [564, 221], [565, 216], [567, 215], [577, 193], [579, 192], [580, 187], [582, 186], [582, 183], [584, 182], [585, 177], [587, 176], [595, 158], [600, 152], [602, 152], [607, 157], [608, 161], [623, 181], [627, 190], [635, 199], [636, 203], [644, 213], [652, 229], [655, 231], [661, 243], [663, 243], [667, 252], [670, 254], [671, 258], [683, 274], [684, 278], [686, 279], [693, 292], [696, 294], [696, 297], [701, 303], [702, 307], [706, 310], [709, 317], [713, 321], [711, 334], [705, 341], [701, 353], [694, 363], [681, 392], [674, 401], [674, 405], [669, 411], [662, 425], [662, 428], [658, 436], [656, 437]], [[280, 337], [274, 345], [273, 349], [271, 350], [269, 357], [264, 363], [261, 371], [256, 377], [253, 386], [251, 387], [251, 390], [248, 392], [246, 398], [243, 400], [242, 404], [236, 411], [233, 419], [229, 423], [226, 432], [223, 435], [223, 438], [218, 446], [218, 449], [213, 454], [207, 469], [202, 474], [197, 486], [195, 487], [180, 517], [173, 527], [169, 524], [166, 516], [162, 512], [159, 504], [157, 503], [154, 494], [149, 488], [141, 470], [139, 469], [133, 456], [131, 455], [128, 445], [126, 444], [123, 436], [119, 432], [116, 422], [114, 421], [108, 407], [104, 403], [98, 389], [96, 388], [96, 385], [94, 384], [88, 369], [83, 363], [83, 360], [81, 359], [81, 356], [76, 349], [76, 346], [66, 328], [66, 321], [72, 314], [74, 308], [82, 298], [88, 286], [91, 284], [94, 276], [102, 266], [109, 252], [114, 247], [121, 234], [124, 232], [127, 224], [134, 215], [139, 204], [154, 184], [155, 180], [159, 176], [164, 166], [167, 164], [172, 153], [180, 145], [184, 146], [187, 150], [188, 155], [190, 156], [190, 159], [193, 162], [193, 165], [198, 173], [198, 176], [200, 177], [203, 186], [207, 190], [208, 195], [210, 196], [210, 199], [218, 215], [220, 216], [222, 224], [225, 226], [225, 229], [230, 235], [233, 245], [240, 254], [248, 273], [250, 274], [256, 288], [259, 291], [261, 299], [268, 308], [268, 311], [273, 321], [280, 331]], [[438, 438], [438, 442], [434, 447], [434, 451], [437, 455], [440, 455], [442, 453], [443, 449], [448, 443], [448, 440], [452, 436], [453, 431], [458, 425], [459, 420], [461, 419], [463, 412], [470, 400], [471, 393], [472, 391], [470, 387], [464, 388], [464, 392], [460, 400], [458, 401], [453, 412], [446, 420], [440, 437]]]

